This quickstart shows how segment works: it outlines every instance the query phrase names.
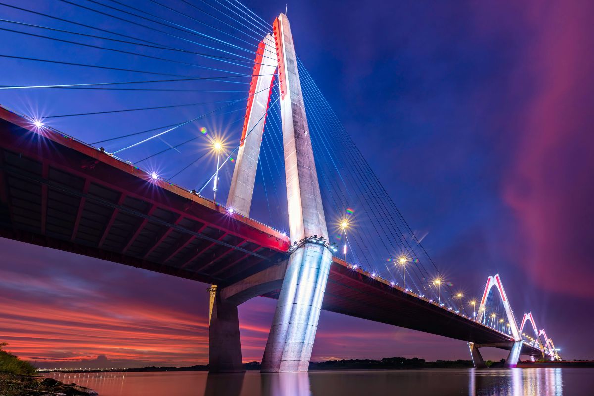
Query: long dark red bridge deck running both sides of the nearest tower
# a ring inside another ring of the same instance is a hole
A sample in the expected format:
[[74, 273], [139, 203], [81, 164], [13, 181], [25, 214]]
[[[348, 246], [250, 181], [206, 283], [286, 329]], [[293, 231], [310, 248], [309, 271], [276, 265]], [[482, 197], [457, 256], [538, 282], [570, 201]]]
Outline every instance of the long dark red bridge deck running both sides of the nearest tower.
[[[4, 107], [0, 142], [0, 236], [219, 287], [285, 262], [278, 230]], [[336, 257], [323, 309], [500, 349], [513, 341]], [[541, 351], [524, 343], [522, 354]]]

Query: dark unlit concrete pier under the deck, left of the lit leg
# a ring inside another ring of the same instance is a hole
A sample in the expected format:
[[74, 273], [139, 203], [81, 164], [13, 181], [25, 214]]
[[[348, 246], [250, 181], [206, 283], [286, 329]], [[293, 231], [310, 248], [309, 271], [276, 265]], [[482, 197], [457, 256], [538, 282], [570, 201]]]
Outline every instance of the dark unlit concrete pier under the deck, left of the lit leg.
[[244, 372], [237, 306], [224, 303], [216, 290], [208, 327], [208, 372]]

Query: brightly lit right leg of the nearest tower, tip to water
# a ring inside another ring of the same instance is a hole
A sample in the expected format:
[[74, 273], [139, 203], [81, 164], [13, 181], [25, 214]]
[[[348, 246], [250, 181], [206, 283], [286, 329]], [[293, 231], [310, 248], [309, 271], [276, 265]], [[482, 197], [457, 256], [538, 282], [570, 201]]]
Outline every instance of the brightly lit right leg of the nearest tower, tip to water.
[[[314, 235], [327, 236], [297, 59], [286, 15], [279, 15], [273, 30], [279, 64], [290, 239], [301, 241]], [[263, 372], [308, 370], [331, 259], [326, 246], [308, 240], [290, 255], [262, 359]]]

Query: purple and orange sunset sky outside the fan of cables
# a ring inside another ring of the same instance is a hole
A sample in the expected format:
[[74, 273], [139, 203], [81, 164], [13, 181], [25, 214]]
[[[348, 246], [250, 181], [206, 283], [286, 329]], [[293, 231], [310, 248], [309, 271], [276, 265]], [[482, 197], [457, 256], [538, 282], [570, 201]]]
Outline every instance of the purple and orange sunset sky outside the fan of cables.
[[[269, 20], [285, 5], [246, 4]], [[532, 311], [566, 359], [594, 359], [593, 11], [305, 1], [288, 13], [299, 56], [432, 259], [470, 293], [499, 271], [516, 316]], [[1, 52], [20, 54], [11, 37]], [[0, 83], [30, 78], [28, 64], [0, 62]], [[0, 103], [31, 104], [6, 92]], [[206, 284], [5, 239], [0, 249], [0, 340], [15, 354], [40, 366], [207, 362]], [[261, 360], [273, 311], [263, 298], [240, 307], [244, 360]], [[322, 313], [312, 360], [385, 356], [469, 359], [461, 341]]]

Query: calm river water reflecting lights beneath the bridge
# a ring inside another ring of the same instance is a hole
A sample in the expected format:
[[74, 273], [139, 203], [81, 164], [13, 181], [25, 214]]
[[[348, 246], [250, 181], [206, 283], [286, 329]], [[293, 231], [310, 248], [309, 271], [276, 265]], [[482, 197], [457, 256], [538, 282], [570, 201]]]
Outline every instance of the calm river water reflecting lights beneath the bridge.
[[55, 373], [100, 396], [594, 395], [594, 369]]

